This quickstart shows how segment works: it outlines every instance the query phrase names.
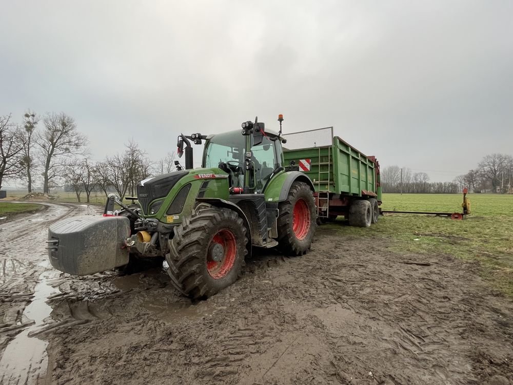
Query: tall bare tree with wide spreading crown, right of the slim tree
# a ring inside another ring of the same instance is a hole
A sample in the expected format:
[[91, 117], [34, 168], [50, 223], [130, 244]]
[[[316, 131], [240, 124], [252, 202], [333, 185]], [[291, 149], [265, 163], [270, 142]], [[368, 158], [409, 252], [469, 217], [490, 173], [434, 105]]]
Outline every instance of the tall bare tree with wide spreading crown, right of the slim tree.
[[76, 129], [74, 119], [64, 112], [49, 113], [43, 122], [45, 128], [38, 133], [36, 142], [43, 157], [43, 191], [49, 192], [50, 181], [62, 176], [66, 159], [86, 153], [87, 139]]

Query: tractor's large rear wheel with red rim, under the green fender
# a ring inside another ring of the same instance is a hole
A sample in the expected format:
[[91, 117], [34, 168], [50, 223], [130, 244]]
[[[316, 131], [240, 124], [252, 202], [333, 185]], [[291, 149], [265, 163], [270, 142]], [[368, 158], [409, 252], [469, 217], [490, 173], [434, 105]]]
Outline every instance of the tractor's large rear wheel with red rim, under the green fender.
[[312, 190], [304, 182], [292, 183], [287, 200], [278, 208], [278, 248], [286, 255], [305, 254], [317, 227], [317, 208]]

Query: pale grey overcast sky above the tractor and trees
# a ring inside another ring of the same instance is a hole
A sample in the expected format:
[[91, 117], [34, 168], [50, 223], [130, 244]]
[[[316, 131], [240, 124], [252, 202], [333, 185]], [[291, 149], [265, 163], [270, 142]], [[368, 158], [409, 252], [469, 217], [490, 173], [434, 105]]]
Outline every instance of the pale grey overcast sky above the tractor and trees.
[[64, 111], [93, 159], [279, 113], [433, 181], [513, 155], [513, 1], [1, 4], [0, 115]]

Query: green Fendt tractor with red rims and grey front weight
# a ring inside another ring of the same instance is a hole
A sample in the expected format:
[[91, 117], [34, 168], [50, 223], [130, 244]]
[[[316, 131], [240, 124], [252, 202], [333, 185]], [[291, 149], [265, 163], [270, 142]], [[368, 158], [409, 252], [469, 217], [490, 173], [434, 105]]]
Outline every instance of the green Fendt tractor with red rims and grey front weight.
[[[172, 284], [197, 299], [232, 284], [253, 247], [305, 254], [316, 228], [314, 187], [293, 164], [283, 164], [282, 115], [279, 121], [280, 132], [255, 118], [242, 130], [181, 134], [185, 167], [176, 161], [177, 171], [141, 181], [136, 204], [111, 194], [103, 217], [50, 226], [52, 265], [86, 275], [166, 258]], [[193, 168], [191, 142], [205, 142], [202, 168]]]

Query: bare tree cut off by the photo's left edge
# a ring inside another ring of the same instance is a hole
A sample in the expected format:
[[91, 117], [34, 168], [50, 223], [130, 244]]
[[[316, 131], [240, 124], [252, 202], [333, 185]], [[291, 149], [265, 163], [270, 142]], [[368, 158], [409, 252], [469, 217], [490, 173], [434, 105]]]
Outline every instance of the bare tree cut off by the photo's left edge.
[[21, 177], [22, 157], [21, 131], [11, 123], [11, 114], [0, 117], [0, 188], [6, 179]]

